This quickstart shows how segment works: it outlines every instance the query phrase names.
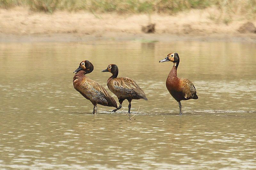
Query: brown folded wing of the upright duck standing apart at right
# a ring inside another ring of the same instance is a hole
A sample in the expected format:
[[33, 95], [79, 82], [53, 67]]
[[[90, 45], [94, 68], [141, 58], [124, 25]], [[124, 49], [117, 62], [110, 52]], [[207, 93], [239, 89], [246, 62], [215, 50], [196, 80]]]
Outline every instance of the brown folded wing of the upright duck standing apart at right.
[[186, 99], [191, 99], [196, 94], [193, 83], [185, 78], [180, 78], [180, 90]]

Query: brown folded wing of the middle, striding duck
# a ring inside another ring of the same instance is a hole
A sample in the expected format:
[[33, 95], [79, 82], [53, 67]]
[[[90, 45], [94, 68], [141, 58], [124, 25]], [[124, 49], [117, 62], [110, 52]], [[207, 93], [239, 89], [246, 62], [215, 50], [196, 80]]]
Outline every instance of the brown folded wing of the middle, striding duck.
[[[112, 90], [111, 90], [112, 89]], [[145, 93], [140, 89], [139, 85], [130, 78], [114, 78], [111, 81], [111, 91], [118, 98], [145, 99]]]

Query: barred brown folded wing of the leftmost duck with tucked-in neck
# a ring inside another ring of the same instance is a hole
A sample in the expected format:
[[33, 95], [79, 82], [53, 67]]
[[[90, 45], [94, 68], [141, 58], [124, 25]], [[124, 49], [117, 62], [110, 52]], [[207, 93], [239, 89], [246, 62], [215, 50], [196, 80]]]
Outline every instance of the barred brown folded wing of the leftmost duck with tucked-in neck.
[[98, 103], [103, 106], [117, 107], [116, 101], [110, 96], [106, 89], [99, 83], [89, 78], [82, 81], [78, 91], [92, 103]]

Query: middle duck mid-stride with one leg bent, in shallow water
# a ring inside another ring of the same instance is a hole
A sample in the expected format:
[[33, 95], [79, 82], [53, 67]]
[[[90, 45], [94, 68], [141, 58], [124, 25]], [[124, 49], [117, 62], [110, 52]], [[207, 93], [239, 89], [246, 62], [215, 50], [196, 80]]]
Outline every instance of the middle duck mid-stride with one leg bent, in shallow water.
[[108, 65], [108, 68], [101, 72], [112, 73], [112, 76], [108, 78], [107, 85], [109, 90], [116, 95], [120, 103], [119, 107], [114, 109], [113, 112], [116, 112], [116, 110], [122, 107], [122, 103], [125, 99], [129, 102], [128, 113], [130, 113], [131, 110], [132, 99], [148, 100], [143, 90], [140, 89], [135, 81], [126, 77], [116, 78], [118, 75], [118, 68], [115, 64]]

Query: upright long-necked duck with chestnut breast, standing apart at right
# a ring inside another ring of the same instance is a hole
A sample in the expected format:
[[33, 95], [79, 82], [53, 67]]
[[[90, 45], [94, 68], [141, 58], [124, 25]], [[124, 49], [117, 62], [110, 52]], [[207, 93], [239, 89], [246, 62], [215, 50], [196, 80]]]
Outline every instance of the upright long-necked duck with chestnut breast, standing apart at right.
[[167, 77], [166, 88], [172, 97], [178, 101], [180, 115], [182, 115], [180, 100], [198, 99], [196, 95], [196, 88], [191, 81], [177, 77], [177, 68], [180, 63], [180, 57], [177, 53], [168, 54], [167, 57], [160, 60], [159, 63], [167, 61], [173, 62], [173, 67]]

